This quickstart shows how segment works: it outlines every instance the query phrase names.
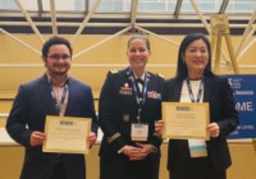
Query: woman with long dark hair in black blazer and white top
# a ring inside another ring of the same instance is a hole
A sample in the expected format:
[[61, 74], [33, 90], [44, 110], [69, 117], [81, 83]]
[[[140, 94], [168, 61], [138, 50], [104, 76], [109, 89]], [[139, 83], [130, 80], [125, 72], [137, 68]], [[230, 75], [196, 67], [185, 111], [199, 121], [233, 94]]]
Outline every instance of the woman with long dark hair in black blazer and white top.
[[[225, 179], [231, 165], [225, 137], [239, 123], [233, 91], [225, 77], [211, 71], [211, 45], [200, 33], [188, 34], [180, 45], [176, 76], [166, 81], [165, 101], [208, 102], [210, 105], [210, 141], [205, 146], [206, 155], [193, 158], [189, 144], [194, 140], [169, 141], [168, 170], [172, 179]], [[156, 125], [161, 134], [163, 121]], [[195, 141], [194, 141], [195, 142]]]

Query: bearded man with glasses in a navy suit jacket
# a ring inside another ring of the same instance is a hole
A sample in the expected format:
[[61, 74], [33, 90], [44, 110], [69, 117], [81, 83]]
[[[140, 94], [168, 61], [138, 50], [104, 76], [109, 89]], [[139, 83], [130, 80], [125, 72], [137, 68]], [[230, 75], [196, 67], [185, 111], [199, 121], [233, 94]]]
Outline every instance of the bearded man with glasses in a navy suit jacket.
[[84, 155], [42, 152], [46, 115], [92, 118], [88, 141], [90, 146], [96, 142], [97, 120], [92, 90], [68, 74], [71, 57], [72, 49], [67, 40], [49, 39], [43, 47], [47, 69], [44, 76], [19, 87], [6, 131], [25, 147], [20, 179], [85, 178]]

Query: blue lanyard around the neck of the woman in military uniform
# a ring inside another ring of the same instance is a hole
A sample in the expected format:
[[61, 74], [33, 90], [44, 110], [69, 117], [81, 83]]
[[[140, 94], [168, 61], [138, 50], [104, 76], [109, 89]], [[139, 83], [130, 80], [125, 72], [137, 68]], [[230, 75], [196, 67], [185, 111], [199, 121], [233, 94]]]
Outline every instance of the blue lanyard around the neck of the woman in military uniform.
[[142, 98], [139, 98], [139, 95], [138, 95], [138, 90], [139, 89], [137, 88], [137, 85], [135, 83], [134, 72], [131, 70], [131, 68], [130, 68], [130, 73], [133, 74], [132, 83], [133, 83], [133, 88], [134, 88], [134, 95], [135, 95], [137, 106], [138, 106], [137, 120], [140, 121], [140, 111], [141, 111], [141, 109], [142, 109], [142, 107], [145, 103], [146, 94], [147, 94], [147, 71], [145, 71], [145, 83], [144, 83], [144, 87], [143, 87], [143, 90], [142, 90]]

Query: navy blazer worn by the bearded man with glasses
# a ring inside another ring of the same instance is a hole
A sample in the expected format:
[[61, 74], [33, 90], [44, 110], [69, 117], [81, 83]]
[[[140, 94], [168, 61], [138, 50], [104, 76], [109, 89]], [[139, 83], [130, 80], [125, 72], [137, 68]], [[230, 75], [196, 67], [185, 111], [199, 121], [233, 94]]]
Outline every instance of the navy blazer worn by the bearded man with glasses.
[[[96, 112], [90, 86], [71, 77], [68, 83], [69, 100], [65, 116], [92, 118], [91, 131], [96, 133]], [[58, 116], [58, 113], [47, 77], [44, 75], [35, 81], [19, 86], [19, 93], [6, 122], [8, 134], [25, 147], [25, 159], [20, 179], [50, 179], [54, 171], [57, 154], [43, 153], [42, 146], [32, 147], [30, 144], [33, 131], [44, 133], [46, 115]], [[85, 178], [84, 155], [62, 154], [61, 156], [68, 179]]]

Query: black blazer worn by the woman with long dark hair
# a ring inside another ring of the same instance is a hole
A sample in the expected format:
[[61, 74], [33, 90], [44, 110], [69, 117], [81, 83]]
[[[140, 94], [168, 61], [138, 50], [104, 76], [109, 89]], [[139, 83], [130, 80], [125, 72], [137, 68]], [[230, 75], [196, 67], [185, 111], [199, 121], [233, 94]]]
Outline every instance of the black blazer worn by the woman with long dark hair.
[[[165, 84], [164, 101], [179, 102], [183, 80], [173, 78]], [[233, 99], [233, 91], [225, 77], [212, 75], [204, 80], [203, 101], [210, 104], [210, 120], [220, 126], [220, 135], [207, 141], [208, 157], [216, 172], [222, 172], [231, 165], [226, 135], [239, 124], [237, 110]], [[177, 143], [170, 140], [168, 149], [168, 170], [172, 173]]]

